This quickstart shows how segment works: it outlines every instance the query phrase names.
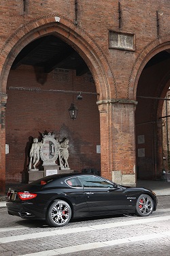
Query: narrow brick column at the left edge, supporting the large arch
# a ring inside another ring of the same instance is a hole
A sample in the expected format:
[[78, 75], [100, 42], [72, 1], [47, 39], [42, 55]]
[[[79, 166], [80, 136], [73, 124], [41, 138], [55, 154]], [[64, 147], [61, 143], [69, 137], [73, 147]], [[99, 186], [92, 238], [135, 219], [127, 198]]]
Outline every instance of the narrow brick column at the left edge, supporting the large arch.
[[0, 93], [0, 195], [5, 195], [5, 106], [7, 95]]

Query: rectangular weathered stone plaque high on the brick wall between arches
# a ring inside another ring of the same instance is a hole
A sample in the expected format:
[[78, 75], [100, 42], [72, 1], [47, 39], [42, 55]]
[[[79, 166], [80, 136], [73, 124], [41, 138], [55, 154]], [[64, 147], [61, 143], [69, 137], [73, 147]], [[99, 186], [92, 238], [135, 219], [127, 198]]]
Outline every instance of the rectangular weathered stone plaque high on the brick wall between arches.
[[135, 35], [109, 31], [109, 48], [135, 51]]

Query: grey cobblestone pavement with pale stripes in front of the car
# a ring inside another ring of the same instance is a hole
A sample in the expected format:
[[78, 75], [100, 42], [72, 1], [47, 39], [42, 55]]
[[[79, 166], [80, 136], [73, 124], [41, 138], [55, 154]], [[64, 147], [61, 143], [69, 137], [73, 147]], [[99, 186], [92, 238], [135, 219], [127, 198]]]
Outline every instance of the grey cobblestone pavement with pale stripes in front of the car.
[[0, 216], [0, 256], [170, 255], [170, 196], [158, 197], [148, 217], [81, 219], [61, 228], [10, 216], [7, 208]]

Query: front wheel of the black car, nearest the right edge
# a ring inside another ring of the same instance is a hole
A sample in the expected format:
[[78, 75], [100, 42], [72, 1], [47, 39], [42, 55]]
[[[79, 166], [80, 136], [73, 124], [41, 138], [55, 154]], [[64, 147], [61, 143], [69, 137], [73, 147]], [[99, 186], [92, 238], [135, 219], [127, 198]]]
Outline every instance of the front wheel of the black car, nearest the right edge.
[[136, 203], [136, 214], [138, 216], [149, 216], [154, 210], [154, 201], [149, 195], [140, 195]]

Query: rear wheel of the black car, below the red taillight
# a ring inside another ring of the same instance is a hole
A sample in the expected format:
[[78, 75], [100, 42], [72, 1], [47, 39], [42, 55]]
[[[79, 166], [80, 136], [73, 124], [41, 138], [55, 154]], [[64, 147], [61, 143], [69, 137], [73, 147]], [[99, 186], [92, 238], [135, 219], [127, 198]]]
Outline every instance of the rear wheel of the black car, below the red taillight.
[[51, 227], [63, 227], [71, 219], [71, 207], [63, 200], [56, 200], [48, 208], [46, 223]]

